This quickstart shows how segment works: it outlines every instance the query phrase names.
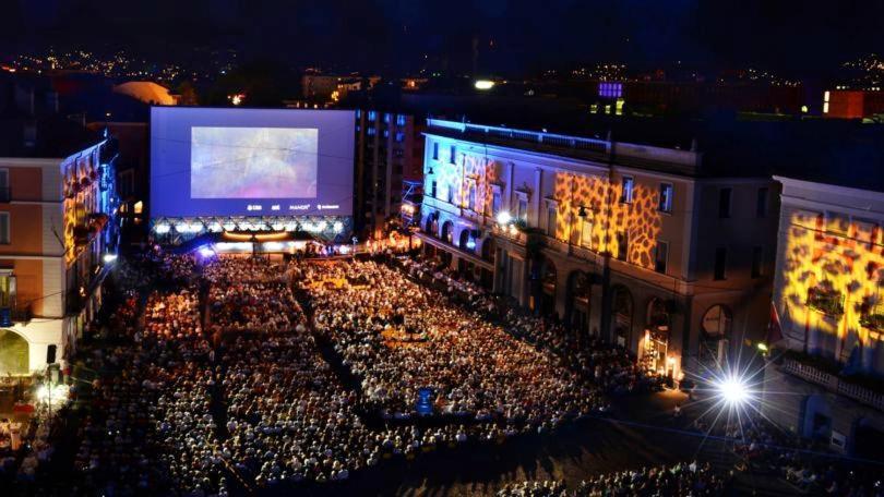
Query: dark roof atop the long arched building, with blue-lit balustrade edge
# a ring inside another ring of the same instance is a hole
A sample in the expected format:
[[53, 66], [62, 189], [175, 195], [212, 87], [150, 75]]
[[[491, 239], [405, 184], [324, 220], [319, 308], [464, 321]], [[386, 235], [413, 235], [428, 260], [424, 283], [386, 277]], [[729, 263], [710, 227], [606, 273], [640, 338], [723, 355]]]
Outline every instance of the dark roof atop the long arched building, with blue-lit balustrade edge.
[[441, 119], [427, 123], [432, 134], [695, 178], [778, 174], [884, 192], [884, 125], [621, 119], [559, 134]]

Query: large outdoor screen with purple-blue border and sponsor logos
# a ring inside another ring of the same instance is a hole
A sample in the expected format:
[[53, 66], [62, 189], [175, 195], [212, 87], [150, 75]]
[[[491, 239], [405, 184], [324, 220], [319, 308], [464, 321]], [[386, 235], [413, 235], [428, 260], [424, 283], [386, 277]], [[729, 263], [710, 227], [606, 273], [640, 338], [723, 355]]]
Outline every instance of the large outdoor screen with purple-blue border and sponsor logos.
[[151, 215], [350, 216], [353, 111], [151, 109]]

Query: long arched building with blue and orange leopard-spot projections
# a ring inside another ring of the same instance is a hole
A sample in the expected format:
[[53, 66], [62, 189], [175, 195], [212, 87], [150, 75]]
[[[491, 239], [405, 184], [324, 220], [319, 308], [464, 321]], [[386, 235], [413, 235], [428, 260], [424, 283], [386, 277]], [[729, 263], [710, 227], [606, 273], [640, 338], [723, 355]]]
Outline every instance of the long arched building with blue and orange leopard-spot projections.
[[430, 120], [425, 250], [577, 337], [679, 376], [763, 337], [776, 237], [769, 178], [695, 150]]

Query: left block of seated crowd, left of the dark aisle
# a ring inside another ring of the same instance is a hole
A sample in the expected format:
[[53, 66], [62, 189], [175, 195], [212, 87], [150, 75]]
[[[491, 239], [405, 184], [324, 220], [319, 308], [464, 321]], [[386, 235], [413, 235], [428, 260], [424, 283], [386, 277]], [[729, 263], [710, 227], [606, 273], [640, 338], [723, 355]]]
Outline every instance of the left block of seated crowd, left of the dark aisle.
[[152, 293], [133, 344], [93, 362], [106, 374], [95, 381], [80, 428], [81, 490], [219, 489], [217, 468], [202, 463], [215, 444], [206, 395], [214, 379], [198, 305], [187, 289]]

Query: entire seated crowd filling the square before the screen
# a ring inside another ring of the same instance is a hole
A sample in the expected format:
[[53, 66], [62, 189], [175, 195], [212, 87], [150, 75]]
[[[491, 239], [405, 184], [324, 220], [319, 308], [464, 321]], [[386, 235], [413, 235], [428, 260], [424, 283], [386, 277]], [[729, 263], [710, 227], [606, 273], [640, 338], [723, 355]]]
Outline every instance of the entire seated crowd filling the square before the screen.
[[[507, 331], [373, 262], [175, 267], [178, 289], [152, 292], [143, 311], [130, 294], [109, 319], [131, 343], [93, 353], [104, 374], [77, 433], [83, 477], [73, 493], [227, 495], [347, 480], [384, 459], [500, 443], [604, 410], [602, 390], [622, 385], [612, 375], [629, 365], [599, 344], [573, 367], [540, 346], [556, 343], [548, 328], [530, 328], [541, 322], [504, 315], [525, 328]], [[309, 299], [312, 326], [289, 281]], [[217, 317], [208, 329], [204, 306]], [[210, 339], [215, 331], [222, 339]], [[427, 427], [414, 422], [422, 387], [439, 421]], [[529, 490], [564, 490], [538, 485]], [[706, 495], [721, 485], [706, 468], [678, 465], [600, 476], [576, 495]]]

